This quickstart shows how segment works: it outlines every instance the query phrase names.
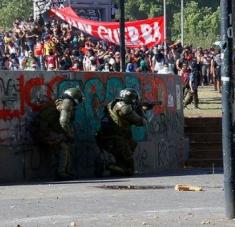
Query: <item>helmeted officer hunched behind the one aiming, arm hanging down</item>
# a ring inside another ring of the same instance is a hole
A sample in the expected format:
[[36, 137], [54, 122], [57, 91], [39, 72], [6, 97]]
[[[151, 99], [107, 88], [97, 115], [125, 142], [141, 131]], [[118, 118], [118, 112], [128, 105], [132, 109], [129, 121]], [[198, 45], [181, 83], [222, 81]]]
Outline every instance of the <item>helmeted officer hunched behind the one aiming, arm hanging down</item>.
[[36, 140], [41, 149], [51, 153], [57, 180], [74, 178], [71, 163], [75, 133], [72, 122], [75, 108], [83, 99], [79, 88], [69, 88], [62, 97], [47, 103], [37, 117]]

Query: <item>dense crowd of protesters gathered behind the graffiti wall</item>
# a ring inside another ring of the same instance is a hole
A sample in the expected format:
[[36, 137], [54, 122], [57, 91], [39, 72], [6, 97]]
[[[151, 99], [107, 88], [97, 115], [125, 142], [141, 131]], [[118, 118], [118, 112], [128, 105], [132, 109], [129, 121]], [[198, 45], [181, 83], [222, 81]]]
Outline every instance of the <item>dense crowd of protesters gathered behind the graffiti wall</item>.
[[[126, 48], [126, 72], [174, 71], [187, 82], [190, 65], [198, 65], [198, 84], [214, 84], [220, 91], [221, 57], [219, 48], [193, 48], [180, 41], [152, 48]], [[119, 47], [94, 39], [70, 25], [42, 18], [16, 20], [11, 31], [0, 32], [0, 69], [120, 71]]]

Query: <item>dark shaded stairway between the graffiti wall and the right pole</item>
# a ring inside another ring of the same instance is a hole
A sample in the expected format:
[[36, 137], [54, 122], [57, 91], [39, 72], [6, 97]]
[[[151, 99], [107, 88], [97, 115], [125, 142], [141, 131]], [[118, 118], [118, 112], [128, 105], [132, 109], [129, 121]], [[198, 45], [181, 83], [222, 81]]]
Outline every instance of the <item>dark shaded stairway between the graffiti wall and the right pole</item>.
[[185, 118], [189, 138], [188, 167], [223, 167], [221, 117]]

